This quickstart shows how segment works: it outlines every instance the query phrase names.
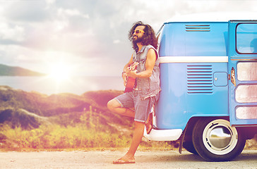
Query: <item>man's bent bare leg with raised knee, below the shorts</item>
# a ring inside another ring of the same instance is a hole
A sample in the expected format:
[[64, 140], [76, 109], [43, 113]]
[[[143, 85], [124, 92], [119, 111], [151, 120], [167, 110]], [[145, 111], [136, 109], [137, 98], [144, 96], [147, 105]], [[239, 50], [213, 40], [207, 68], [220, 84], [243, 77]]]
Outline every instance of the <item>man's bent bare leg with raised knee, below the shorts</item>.
[[128, 117], [135, 117], [135, 111], [131, 110], [130, 108], [124, 108], [121, 107], [121, 104], [119, 104], [116, 99], [112, 99], [108, 102], [107, 107], [109, 108], [110, 111], [114, 113], [118, 113], [120, 115], [126, 115]]

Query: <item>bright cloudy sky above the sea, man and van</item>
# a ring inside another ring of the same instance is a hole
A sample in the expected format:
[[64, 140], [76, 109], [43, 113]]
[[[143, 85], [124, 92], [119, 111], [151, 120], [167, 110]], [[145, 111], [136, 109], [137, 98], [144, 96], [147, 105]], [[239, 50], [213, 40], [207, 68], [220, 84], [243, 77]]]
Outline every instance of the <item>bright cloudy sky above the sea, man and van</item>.
[[[121, 75], [138, 20], [257, 12], [257, 0], [0, 0], [0, 63], [51, 74]], [[257, 18], [256, 18], [257, 19]]]

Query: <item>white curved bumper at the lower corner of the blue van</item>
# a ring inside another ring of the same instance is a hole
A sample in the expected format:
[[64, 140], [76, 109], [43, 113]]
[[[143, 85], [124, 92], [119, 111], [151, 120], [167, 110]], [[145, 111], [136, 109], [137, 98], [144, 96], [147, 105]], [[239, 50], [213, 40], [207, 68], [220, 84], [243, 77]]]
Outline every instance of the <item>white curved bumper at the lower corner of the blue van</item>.
[[147, 134], [145, 129], [143, 136], [152, 141], [175, 141], [179, 139], [181, 134], [182, 134], [181, 129], [169, 129], [169, 130], [152, 129], [149, 134]]

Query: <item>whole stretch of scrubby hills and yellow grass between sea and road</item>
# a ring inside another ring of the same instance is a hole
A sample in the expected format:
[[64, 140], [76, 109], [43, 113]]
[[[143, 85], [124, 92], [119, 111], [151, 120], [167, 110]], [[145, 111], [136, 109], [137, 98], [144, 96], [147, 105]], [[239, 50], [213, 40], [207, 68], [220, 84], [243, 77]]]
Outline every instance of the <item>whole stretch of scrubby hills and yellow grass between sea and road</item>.
[[[133, 119], [107, 109], [107, 102], [121, 93], [46, 95], [0, 86], [0, 150], [127, 147]], [[256, 140], [248, 145], [254, 146]], [[147, 140], [141, 146], [171, 148]]]

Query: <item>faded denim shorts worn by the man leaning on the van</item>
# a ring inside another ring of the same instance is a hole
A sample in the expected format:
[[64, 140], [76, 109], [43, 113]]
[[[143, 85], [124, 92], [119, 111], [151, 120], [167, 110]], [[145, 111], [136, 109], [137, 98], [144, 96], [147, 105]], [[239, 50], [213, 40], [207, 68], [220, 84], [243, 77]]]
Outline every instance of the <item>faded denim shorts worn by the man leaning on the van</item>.
[[121, 107], [135, 108], [134, 120], [145, 123], [157, 98], [158, 95], [142, 100], [138, 95], [138, 91], [133, 91], [116, 96], [114, 99], [121, 104]]

